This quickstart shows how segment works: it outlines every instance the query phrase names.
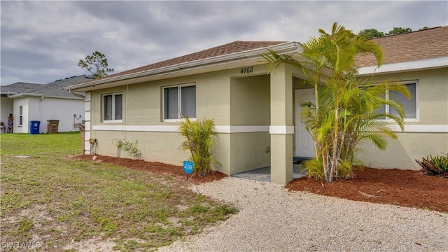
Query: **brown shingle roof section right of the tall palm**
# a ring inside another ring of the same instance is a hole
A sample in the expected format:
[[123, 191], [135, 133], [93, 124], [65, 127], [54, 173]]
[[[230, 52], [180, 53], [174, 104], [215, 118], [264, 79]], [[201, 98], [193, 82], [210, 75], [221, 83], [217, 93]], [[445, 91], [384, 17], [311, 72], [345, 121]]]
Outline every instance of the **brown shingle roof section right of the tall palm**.
[[[448, 26], [373, 38], [372, 41], [383, 50], [383, 64], [448, 56]], [[371, 55], [363, 55], [356, 63], [360, 67], [374, 66], [377, 61]]]

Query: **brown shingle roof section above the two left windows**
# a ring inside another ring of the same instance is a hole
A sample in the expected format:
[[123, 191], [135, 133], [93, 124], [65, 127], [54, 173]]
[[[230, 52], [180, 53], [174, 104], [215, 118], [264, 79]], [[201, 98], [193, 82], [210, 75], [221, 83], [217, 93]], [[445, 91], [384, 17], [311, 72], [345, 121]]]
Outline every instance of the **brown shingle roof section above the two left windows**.
[[228, 43], [225, 45], [219, 45], [214, 48], [209, 48], [207, 50], [202, 50], [200, 52], [194, 52], [189, 55], [184, 55], [181, 57], [175, 57], [173, 59], [167, 59], [162, 62], [154, 63], [154, 64], [148, 64], [146, 66], [141, 66], [136, 69], [131, 69], [128, 71], [123, 71], [120, 73], [112, 74], [110, 76], [106, 76], [103, 78], [110, 78], [115, 76], [122, 76], [130, 73], [138, 73], [141, 71], [151, 70], [151, 69], [158, 69], [164, 66], [174, 66], [176, 64], [186, 63], [186, 62], [193, 62], [198, 59], [207, 59], [211, 57], [221, 56], [221, 55], [228, 55], [235, 52], [244, 52], [247, 50], [254, 50], [258, 48], [265, 48], [269, 47], [271, 45], [279, 45], [281, 43], [286, 43], [286, 41], [234, 41], [232, 43]]

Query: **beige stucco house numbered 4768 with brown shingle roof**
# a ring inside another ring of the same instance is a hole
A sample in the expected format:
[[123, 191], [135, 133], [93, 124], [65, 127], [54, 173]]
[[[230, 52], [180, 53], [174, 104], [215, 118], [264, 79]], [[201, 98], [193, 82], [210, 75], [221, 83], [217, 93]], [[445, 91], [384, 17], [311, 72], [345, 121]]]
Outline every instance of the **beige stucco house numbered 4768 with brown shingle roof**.
[[[370, 167], [419, 169], [415, 159], [448, 151], [448, 27], [374, 41], [384, 47], [384, 65], [359, 59], [360, 76], [395, 78], [413, 98], [403, 101], [407, 118], [398, 140], [386, 151], [367, 143], [360, 158]], [[181, 165], [189, 155], [179, 148], [182, 113], [215, 120], [216, 170], [230, 175], [270, 165], [271, 180], [288, 183], [293, 156], [314, 156], [299, 116], [314, 90], [292, 66], [267, 74], [260, 57], [267, 48], [303, 59], [300, 43], [235, 41], [66, 87], [85, 92], [86, 153], [113, 156], [119, 141], [139, 140], [145, 160]]]

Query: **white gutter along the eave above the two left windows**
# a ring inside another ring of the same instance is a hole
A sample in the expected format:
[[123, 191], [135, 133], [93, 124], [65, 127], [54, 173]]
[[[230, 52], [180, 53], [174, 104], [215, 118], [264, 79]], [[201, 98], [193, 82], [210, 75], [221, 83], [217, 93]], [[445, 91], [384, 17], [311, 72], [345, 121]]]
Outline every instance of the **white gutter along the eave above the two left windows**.
[[246, 50], [243, 52], [235, 52], [228, 55], [220, 55], [216, 57], [209, 57], [206, 59], [197, 59], [191, 62], [184, 62], [180, 64], [175, 64], [172, 66], [164, 66], [158, 69], [149, 69], [146, 71], [139, 71], [137, 73], [129, 73], [123, 76], [116, 76], [111, 78], [104, 78], [99, 80], [92, 80], [88, 83], [80, 83], [76, 85], [71, 85], [68, 87], [64, 87], [64, 90], [76, 90], [78, 88], [83, 87], [92, 87], [95, 85], [102, 85], [107, 83], [118, 82], [120, 80], [130, 80], [133, 78], [140, 78], [146, 76], [153, 76], [156, 74], [177, 72], [177, 71], [187, 71], [198, 68], [207, 68], [211, 66], [218, 66], [223, 64], [231, 64], [235, 62], [242, 62], [246, 60], [256, 59], [260, 57], [260, 54], [267, 53], [267, 49], [274, 50], [279, 54], [287, 54], [287, 53], [300, 53], [302, 52], [302, 48], [300, 43], [297, 42], [286, 42], [279, 45], [272, 45], [267, 48], [257, 48], [253, 50]]

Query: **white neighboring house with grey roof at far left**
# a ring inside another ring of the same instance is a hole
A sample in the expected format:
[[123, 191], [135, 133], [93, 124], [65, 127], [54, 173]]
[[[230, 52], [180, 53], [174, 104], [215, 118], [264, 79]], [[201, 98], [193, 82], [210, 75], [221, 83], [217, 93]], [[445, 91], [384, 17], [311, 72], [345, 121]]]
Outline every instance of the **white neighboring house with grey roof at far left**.
[[14, 133], [29, 133], [30, 121], [40, 121], [39, 132], [46, 133], [47, 120], [59, 120], [58, 132], [78, 130], [73, 123], [85, 120], [83, 93], [71, 94], [63, 88], [87, 80], [92, 78], [83, 75], [48, 84], [13, 83], [1, 86], [1, 122], [7, 125], [8, 114], [13, 113]]

